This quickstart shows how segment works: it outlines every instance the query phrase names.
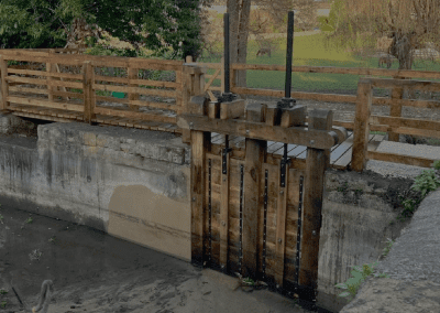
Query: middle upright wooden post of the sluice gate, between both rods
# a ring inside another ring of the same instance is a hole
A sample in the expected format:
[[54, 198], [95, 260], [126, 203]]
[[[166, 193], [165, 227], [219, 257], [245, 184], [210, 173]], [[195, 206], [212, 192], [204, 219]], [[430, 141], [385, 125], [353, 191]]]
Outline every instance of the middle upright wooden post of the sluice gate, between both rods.
[[[261, 104], [249, 105], [246, 108], [249, 121], [263, 121], [263, 106]], [[245, 139], [245, 163], [244, 163], [244, 206], [242, 229], [242, 276], [256, 279], [258, 269], [258, 220], [261, 215], [260, 195], [261, 169], [265, 160], [266, 141]]]

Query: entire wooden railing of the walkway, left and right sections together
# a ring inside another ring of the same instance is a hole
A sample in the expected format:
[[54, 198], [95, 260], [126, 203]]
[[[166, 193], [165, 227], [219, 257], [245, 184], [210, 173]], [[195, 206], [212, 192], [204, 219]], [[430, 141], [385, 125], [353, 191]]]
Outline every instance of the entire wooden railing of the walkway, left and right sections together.
[[[220, 63], [193, 63], [187, 57], [182, 61], [141, 60], [119, 56], [94, 56], [80, 54], [82, 50], [0, 50], [1, 94], [0, 109], [21, 110], [32, 115], [36, 108], [51, 110], [68, 110], [75, 112], [73, 117], [82, 121], [108, 122], [111, 125], [139, 127], [144, 129], [158, 129], [173, 132], [183, 132], [184, 140], [188, 133], [182, 131], [176, 125], [178, 115], [189, 111], [189, 99], [194, 95], [208, 94], [212, 101], [217, 98], [212, 91], [224, 91], [223, 61]], [[67, 53], [77, 54], [67, 54]], [[40, 65], [9, 65], [8, 61], [23, 61], [40, 63]], [[43, 65], [42, 65], [43, 64]], [[42, 71], [41, 67], [45, 67]], [[76, 68], [76, 73], [63, 73], [65, 66]], [[100, 67], [119, 67], [127, 71], [125, 77], [105, 76], [96, 73]], [[215, 69], [211, 75], [207, 69]], [[174, 82], [139, 79], [139, 69], [174, 71]], [[285, 71], [283, 65], [231, 64], [231, 91], [241, 95], [256, 95], [282, 98], [284, 90], [238, 87], [235, 71]], [[362, 171], [369, 159], [406, 163], [420, 166], [430, 166], [432, 160], [402, 155], [388, 155], [376, 151], [365, 150], [366, 128], [373, 131], [388, 132], [391, 141], [398, 141], [398, 134], [413, 134], [440, 138], [440, 125], [437, 121], [402, 118], [402, 107], [440, 108], [440, 102], [435, 100], [403, 99], [404, 89], [440, 90], [440, 83], [407, 80], [408, 78], [440, 79], [440, 73], [433, 71], [404, 71], [382, 68], [341, 68], [332, 66], [293, 66], [293, 72], [328, 73], [362, 75], [358, 85], [358, 94], [334, 95], [318, 93], [292, 91], [296, 99], [311, 99], [318, 101], [337, 101], [356, 104], [353, 121], [334, 120], [334, 126], [354, 130], [352, 168]], [[20, 75], [36, 77], [20, 77]], [[389, 78], [374, 78], [373, 76], [388, 76]], [[212, 86], [216, 78], [221, 79], [221, 86]], [[370, 79], [370, 80], [365, 80]], [[366, 83], [370, 82], [370, 83]], [[42, 88], [26, 86], [41, 85]], [[116, 85], [109, 85], [116, 84]], [[363, 87], [365, 84], [370, 87]], [[141, 86], [150, 86], [147, 89]], [[154, 89], [167, 88], [167, 89]], [[373, 97], [372, 88], [392, 88], [392, 97]], [[78, 93], [79, 90], [79, 93]], [[81, 93], [82, 91], [82, 93]], [[128, 98], [116, 98], [103, 95], [109, 91], [128, 94]], [[11, 94], [15, 93], [15, 94]], [[33, 94], [23, 97], [16, 93]], [[98, 93], [98, 94], [97, 94]], [[140, 95], [175, 98], [175, 102], [160, 102], [141, 100]], [[47, 99], [38, 98], [47, 96]], [[57, 98], [61, 97], [62, 100]], [[109, 108], [97, 105], [100, 101], [111, 101], [128, 106], [129, 109]], [[11, 104], [28, 106], [25, 109]], [[366, 107], [365, 107], [366, 106]], [[371, 106], [389, 106], [391, 116], [371, 116]], [[140, 111], [146, 107], [148, 111]], [[158, 111], [162, 110], [162, 111]], [[170, 114], [164, 114], [168, 111]], [[56, 112], [55, 116], [63, 116]], [[52, 114], [54, 116], [54, 114]], [[67, 116], [67, 115], [66, 115]], [[308, 118], [306, 118], [308, 122]], [[361, 128], [360, 126], [365, 126]], [[362, 140], [361, 140], [362, 139]]]

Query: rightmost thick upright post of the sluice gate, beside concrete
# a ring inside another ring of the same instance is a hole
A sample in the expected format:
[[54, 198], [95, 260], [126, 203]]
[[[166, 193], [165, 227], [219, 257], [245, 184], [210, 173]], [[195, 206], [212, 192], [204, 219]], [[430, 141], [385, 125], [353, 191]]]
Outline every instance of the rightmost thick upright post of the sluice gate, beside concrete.
[[[312, 110], [309, 114], [309, 123], [322, 129], [328, 129], [330, 125], [331, 128], [332, 114], [330, 110]], [[319, 121], [316, 122], [314, 119]], [[318, 281], [318, 252], [326, 162], [324, 150], [307, 149], [299, 284], [312, 288], [315, 291]]]

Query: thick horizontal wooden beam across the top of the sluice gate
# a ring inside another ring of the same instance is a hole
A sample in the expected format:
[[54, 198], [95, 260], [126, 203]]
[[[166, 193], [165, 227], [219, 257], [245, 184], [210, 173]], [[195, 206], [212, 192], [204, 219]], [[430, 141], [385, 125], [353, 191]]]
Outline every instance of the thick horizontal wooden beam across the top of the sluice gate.
[[229, 133], [267, 141], [297, 143], [316, 149], [330, 149], [334, 144], [333, 137], [323, 130], [310, 130], [302, 127], [272, 127], [261, 122], [209, 119], [206, 116], [196, 115], [177, 117], [177, 126], [180, 128], [190, 129], [190, 122], [193, 122], [191, 128], [197, 130]]

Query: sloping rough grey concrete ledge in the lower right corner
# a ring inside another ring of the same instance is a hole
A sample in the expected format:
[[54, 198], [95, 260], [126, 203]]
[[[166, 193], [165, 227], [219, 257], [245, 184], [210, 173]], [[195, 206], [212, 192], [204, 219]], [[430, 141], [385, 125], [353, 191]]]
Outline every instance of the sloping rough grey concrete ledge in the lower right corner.
[[341, 313], [440, 312], [440, 188], [422, 201], [411, 223], [377, 265], [389, 278], [369, 278]]

